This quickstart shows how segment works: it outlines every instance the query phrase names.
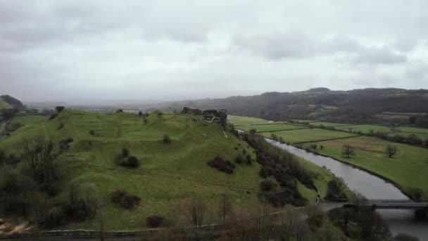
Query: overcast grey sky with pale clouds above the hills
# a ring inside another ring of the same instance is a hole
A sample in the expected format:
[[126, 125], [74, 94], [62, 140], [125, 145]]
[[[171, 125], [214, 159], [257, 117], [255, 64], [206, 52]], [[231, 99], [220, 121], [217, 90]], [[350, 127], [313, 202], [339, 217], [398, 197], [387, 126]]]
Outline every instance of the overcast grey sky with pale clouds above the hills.
[[0, 94], [196, 99], [428, 88], [428, 1], [0, 0]]

